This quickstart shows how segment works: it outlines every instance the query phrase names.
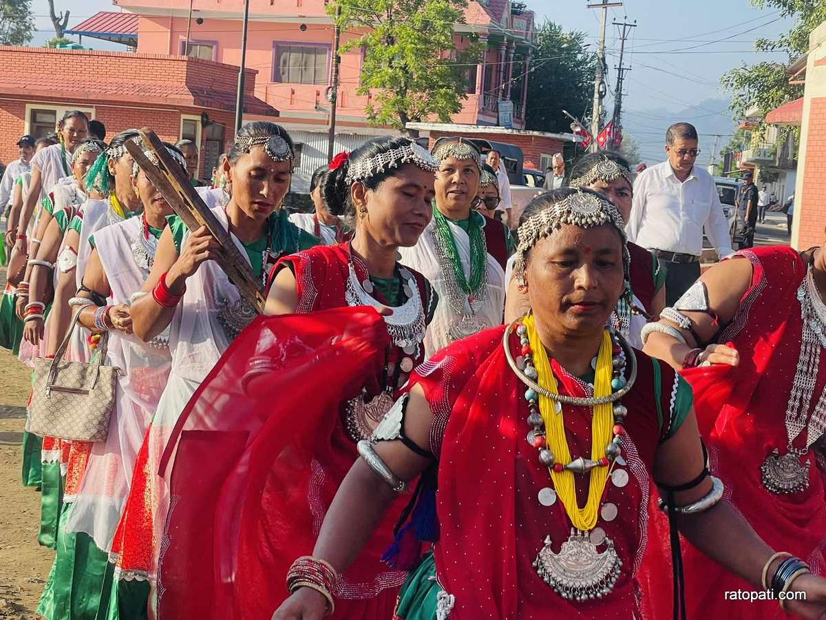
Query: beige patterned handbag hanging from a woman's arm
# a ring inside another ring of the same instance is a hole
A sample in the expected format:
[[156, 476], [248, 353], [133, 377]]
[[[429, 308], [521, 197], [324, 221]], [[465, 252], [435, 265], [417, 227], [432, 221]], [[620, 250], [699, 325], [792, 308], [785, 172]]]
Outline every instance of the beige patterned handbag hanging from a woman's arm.
[[26, 419], [26, 431], [40, 436], [74, 441], [105, 441], [109, 417], [115, 408], [115, 389], [119, 368], [106, 366], [108, 332], [101, 336], [97, 361], [70, 362], [63, 359], [69, 339], [83, 307], [73, 321], [54, 359], [35, 360], [35, 384]]

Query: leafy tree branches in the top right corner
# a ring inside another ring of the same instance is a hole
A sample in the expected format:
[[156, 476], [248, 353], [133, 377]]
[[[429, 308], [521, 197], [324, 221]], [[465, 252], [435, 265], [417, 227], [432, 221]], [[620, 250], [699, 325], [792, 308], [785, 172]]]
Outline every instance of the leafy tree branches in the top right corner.
[[[781, 17], [794, 20], [790, 30], [776, 39], [761, 38], [754, 43], [756, 50], [785, 52], [789, 62], [809, 50], [809, 33], [826, 21], [824, 0], [751, 0], [751, 3], [761, 9], [776, 8]], [[803, 86], [789, 83], [783, 63], [743, 64], [724, 74], [720, 83], [732, 93], [729, 109], [741, 118], [755, 107], [765, 117], [774, 108], [803, 96]], [[759, 136], [763, 131], [765, 123], [761, 120], [754, 132]]]

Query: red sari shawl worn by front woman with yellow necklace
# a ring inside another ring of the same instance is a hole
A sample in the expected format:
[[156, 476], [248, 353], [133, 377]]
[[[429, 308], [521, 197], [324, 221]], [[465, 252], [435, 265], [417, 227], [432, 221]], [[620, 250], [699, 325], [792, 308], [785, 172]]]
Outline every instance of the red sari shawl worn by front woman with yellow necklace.
[[[604, 599], [573, 603], [555, 594], [531, 565], [546, 536], [558, 551], [571, 526], [561, 502], [547, 508], [537, 500], [539, 489], [553, 484], [525, 439], [525, 386], [505, 360], [503, 330], [494, 327], [454, 342], [411, 375], [411, 384], [425, 389], [435, 415], [431, 448], [440, 454], [441, 537], [434, 554], [439, 583], [456, 597], [450, 618], [631, 618], [637, 608], [633, 570], [644, 545], [648, 475], [660, 439], [653, 361], [636, 354], [638, 380], [623, 399], [629, 408], [631, 441], [623, 450], [629, 484], [619, 489], [609, 483], [607, 501], [618, 506], [619, 516], [598, 522], [615, 542], [622, 574]], [[516, 336], [511, 346], [518, 355]], [[585, 395], [577, 379], [552, 364], [562, 393]], [[658, 381], [667, 415], [674, 371], [661, 365]], [[591, 408], [566, 406], [565, 423], [572, 455], [590, 454]]]

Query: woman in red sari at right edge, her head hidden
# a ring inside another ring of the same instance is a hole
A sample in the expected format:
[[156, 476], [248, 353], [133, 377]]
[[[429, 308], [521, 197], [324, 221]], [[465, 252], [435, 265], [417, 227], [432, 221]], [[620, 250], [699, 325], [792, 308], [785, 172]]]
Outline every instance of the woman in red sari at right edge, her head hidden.
[[[741, 250], [705, 272], [664, 318], [645, 351], [694, 386], [700, 432], [730, 501], [778, 550], [826, 572], [826, 253], [789, 247]], [[748, 588], [683, 545], [690, 618], [785, 618], [771, 601], [727, 602]], [[652, 589], [667, 560], [643, 565]], [[667, 601], [652, 598], [661, 618]]]

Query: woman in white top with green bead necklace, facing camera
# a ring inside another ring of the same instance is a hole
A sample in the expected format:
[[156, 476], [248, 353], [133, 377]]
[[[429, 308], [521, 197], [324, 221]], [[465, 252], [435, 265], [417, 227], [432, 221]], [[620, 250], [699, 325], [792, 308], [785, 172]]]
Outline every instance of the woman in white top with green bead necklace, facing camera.
[[415, 246], [399, 248], [401, 262], [423, 274], [439, 295], [425, 335], [428, 356], [501, 325], [505, 265], [512, 251], [506, 227], [472, 208], [482, 156], [476, 146], [448, 138], [434, 145], [433, 155], [439, 162], [433, 220]]

